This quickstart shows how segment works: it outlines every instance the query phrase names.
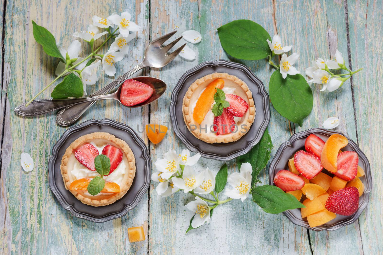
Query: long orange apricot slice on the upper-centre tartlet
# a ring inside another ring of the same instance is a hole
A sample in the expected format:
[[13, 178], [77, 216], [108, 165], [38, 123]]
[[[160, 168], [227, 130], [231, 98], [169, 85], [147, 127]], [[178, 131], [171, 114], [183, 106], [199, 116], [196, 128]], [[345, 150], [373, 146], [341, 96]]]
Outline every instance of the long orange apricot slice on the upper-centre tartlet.
[[216, 79], [210, 82], [206, 89], [203, 90], [193, 111], [193, 119], [196, 123], [201, 124], [203, 119], [205, 119], [206, 113], [210, 111], [211, 104], [214, 102], [214, 94], [217, 91], [216, 88], [222, 89], [224, 85], [224, 80]]

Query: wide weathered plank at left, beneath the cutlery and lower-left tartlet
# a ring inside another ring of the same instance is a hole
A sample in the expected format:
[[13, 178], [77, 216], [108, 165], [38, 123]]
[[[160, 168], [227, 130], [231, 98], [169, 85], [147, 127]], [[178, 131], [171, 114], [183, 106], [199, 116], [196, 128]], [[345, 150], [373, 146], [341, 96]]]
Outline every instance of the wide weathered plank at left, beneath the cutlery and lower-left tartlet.
[[[5, 65], [10, 67], [12, 74], [7, 90], [10, 101], [8, 109], [28, 100], [54, 78], [58, 61], [47, 56], [34, 41], [31, 19], [52, 31], [57, 42], [67, 47], [74, 40], [72, 33], [85, 29], [92, 22], [92, 15], [108, 16], [114, 11], [121, 13], [128, 10], [136, 23], [144, 27], [144, 31], [138, 35], [137, 40], [131, 42], [130, 54], [118, 63], [117, 74], [121, 74], [142, 60], [147, 42], [146, 6], [147, 1], [139, 0], [135, 5], [129, 1], [112, 1], [108, 5], [102, 1], [61, 1], [54, 6], [50, 1], [8, 1], [4, 56]], [[105, 76], [101, 68], [98, 71], [100, 81], [96, 86], [88, 86], [89, 91], [95, 91], [113, 80]], [[52, 89], [44, 92], [40, 98], [49, 98]], [[0, 200], [0, 208], [5, 211], [5, 220], [1, 220], [2, 226], [3, 222], [5, 226], [0, 236], [3, 252], [146, 253], [147, 242], [129, 244], [127, 228], [141, 224], [147, 226], [147, 195], [134, 210], [120, 219], [92, 223], [73, 217], [61, 208], [47, 183], [46, 166], [51, 147], [65, 128], [56, 125], [53, 114], [23, 118], [16, 116], [13, 111], [8, 110], [8, 113], [7, 146], [2, 147], [2, 152], [10, 162], [3, 161]], [[80, 121], [92, 118], [116, 119], [135, 127], [147, 123], [148, 107], [129, 109], [116, 102], [101, 102]], [[23, 151], [30, 153], [35, 160], [35, 169], [30, 173], [20, 168], [20, 153]]]

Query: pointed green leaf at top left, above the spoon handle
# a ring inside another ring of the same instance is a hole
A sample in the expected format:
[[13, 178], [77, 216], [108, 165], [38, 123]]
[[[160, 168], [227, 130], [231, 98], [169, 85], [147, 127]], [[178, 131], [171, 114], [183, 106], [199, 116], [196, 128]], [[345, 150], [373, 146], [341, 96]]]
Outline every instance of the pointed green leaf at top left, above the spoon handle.
[[59, 48], [57, 48], [56, 39], [45, 27], [39, 26], [34, 21], [33, 24], [33, 37], [39, 44], [43, 45], [43, 50], [49, 56], [61, 58], [65, 63], [64, 56], [61, 55]]

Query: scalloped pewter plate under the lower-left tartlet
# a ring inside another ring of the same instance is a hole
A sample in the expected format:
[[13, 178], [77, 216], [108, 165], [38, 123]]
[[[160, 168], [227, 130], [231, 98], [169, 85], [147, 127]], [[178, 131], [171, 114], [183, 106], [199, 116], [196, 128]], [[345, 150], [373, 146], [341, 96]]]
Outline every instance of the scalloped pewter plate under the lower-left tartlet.
[[[136, 158], [136, 176], [128, 192], [116, 202], [102, 207], [85, 205], [76, 199], [69, 190], [65, 189], [60, 170], [61, 158], [66, 148], [80, 136], [92, 132], [108, 132], [124, 140]], [[53, 194], [65, 210], [70, 211], [74, 216], [79, 218], [93, 222], [105, 222], [120, 218], [126, 215], [129, 210], [136, 207], [149, 187], [151, 167], [152, 161], [149, 150], [131, 127], [111, 119], [90, 119], [67, 129], [53, 146], [52, 156], [48, 162], [48, 181]]]

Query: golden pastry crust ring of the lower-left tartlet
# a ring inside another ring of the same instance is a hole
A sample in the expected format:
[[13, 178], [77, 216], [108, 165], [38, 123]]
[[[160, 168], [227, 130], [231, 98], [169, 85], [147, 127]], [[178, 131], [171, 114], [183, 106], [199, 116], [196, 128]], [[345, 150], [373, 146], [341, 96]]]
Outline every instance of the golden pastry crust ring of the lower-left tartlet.
[[[68, 171], [67, 163], [68, 163], [69, 157], [72, 153], [74, 153], [75, 149], [77, 149], [82, 144], [85, 144], [86, 142], [92, 139], [106, 139], [115, 143], [121, 148], [122, 152], [126, 155], [126, 158], [128, 159], [128, 165], [126, 166], [127, 168], [126, 173], [128, 174], [128, 178], [126, 182], [120, 186], [121, 191], [113, 195], [112, 197], [109, 197], [108, 199], [103, 199], [103, 200], [89, 199], [87, 197], [84, 197], [77, 190], [69, 190], [68, 188], [71, 183], [69, 181], [69, 176], [67, 172]], [[65, 184], [65, 189], [69, 190], [82, 203], [98, 207], [98, 206], [110, 205], [111, 203], [116, 202], [118, 199], [121, 199], [121, 197], [123, 197], [126, 194], [126, 192], [128, 192], [128, 190], [132, 186], [133, 179], [136, 174], [136, 160], [134, 158], [131, 148], [129, 147], [128, 144], [126, 144], [126, 142], [106, 132], [94, 132], [94, 133], [87, 134], [85, 136], [81, 136], [77, 138], [76, 140], [74, 140], [74, 142], [72, 142], [72, 144], [69, 145], [69, 147], [65, 150], [64, 155], [62, 156], [60, 169], [61, 169], [62, 179]]]

